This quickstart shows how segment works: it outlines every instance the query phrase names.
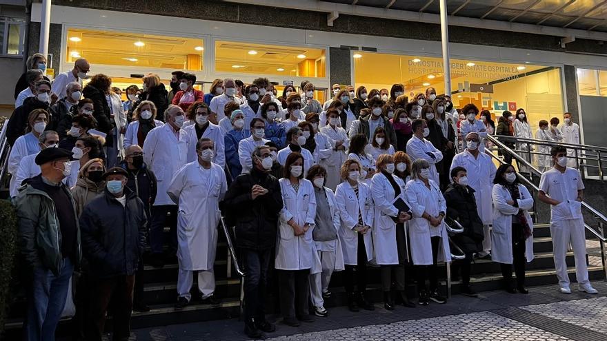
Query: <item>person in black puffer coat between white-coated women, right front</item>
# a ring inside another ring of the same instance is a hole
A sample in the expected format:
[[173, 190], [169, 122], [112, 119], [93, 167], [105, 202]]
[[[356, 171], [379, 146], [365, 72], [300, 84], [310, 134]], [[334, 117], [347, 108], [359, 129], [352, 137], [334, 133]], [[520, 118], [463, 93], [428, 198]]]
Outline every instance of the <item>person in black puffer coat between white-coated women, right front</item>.
[[461, 251], [464, 251], [466, 258], [459, 261], [459, 266], [458, 261], [454, 262], [452, 271], [457, 276], [458, 267], [461, 268], [460, 292], [466, 296], [476, 297], [477, 294], [470, 288], [470, 262], [473, 254], [483, 251], [484, 231], [483, 221], [477, 211], [475, 190], [468, 186], [467, 174], [464, 167], [453, 168], [450, 174], [453, 183], [447, 186], [444, 197], [450, 221], [457, 220], [459, 225], [464, 227], [464, 231], [452, 236], [452, 240]]

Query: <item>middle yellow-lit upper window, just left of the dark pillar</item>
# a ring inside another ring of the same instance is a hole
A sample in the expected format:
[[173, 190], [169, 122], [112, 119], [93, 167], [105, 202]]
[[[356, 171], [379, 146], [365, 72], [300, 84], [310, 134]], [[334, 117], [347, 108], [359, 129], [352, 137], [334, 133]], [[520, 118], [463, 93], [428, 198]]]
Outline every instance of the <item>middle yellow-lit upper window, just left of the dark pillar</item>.
[[215, 71], [324, 77], [325, 50], [232, 41], [215, 42]]

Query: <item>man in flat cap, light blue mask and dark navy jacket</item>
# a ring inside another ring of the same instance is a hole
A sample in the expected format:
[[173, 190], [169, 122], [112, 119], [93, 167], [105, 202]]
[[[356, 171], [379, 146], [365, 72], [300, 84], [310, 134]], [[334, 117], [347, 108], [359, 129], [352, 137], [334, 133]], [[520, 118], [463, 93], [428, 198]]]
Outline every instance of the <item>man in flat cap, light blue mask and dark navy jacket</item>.
[[146, 246], [148, 217], [137, 194], [125, 188], [128, 173], [113, 167], [103, 174], [106, 191], [80, 216], [85, 257], [95, 279], [91, 288], [86, 340], [101, 341], [112, 298], [113, 340], [128, 340], [135, 272]]

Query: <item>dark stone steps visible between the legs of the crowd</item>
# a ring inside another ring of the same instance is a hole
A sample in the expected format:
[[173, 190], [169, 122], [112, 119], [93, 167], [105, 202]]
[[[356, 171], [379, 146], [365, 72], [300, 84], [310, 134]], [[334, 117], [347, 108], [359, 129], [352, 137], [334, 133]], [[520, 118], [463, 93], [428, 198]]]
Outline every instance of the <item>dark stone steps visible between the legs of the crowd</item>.
[[[496, 140], [497, 143], [499, 141]], [[518, 156], [513, 152], [515, 158]], [[497, 156], [495, 156], [496, 159]], [[499, 160], [499, 159], [498, 159]], [[528, 181], [528, 180], [527, 180]], [[528, 181], [528, 187], [533, 189], [533, 183]], [[536, 191], [532, 190], [534, 196]], [[595, 212], [598, 213], [598, 212]], [[600, 215], [600, 214], [599, 214]], [[599, 225], [603, 222], [602, 215], [597, 216]], [[534, 220], [537, 220], [537, 215], [534, 214]], [[592, 231], [591, 231], [592, 230]], [[597, 233], [595, 229], [587, 226], [587, 240], [599, 239], [599, 244], [602, 244], [602, 234]], [[168, 233], [165, 231], [165, 233]], [[550, 238], [550, 228], [545, 221], [535, 222], [534, 236], [534, 253], [535, 260], [527, 263], [527, 285], [550, 285], [557, 283], [555, 265], [553, 260], [553, 248]], [[452, 252], [456, 252], [452, 250]], [[604, 267], [601, 266], [601, 250], [589, 249], [587, 260], [592, 258], [593, 262], [588, 266], [588, 272], [591, 280], [599, 280], [605, 278]], [[145, 259], [145, 258], [144, 258]], [[573, 252], [567, 254], [567, 264], [571, 280], [575, 281], [575, 263]], [[598, 264], [598, 265], [597, 265]], [[444, 294], [448, 291], [448, 282], [450, 282], [450, 291], [452, 294], [459, 293], [459, 281], [451, 281], [448, 277], [447, 267], [449, 265], [441, 264], [440, 271], [442, 274], [441, 290]], [[153, 327], [159, 325], [179, 324], [187, 322], [197, 322], [206, 320], [219, 320], [228, 318], [238, 318], [240, 313], [240, 296], [241, 296], [241, 278], [232, 265], [232, 254], [228, 246], [226, 234], [220, 228], [219, 242], [217, 245], [217, 260], [215, 261], [215, 278], [217, 281], [216, 295], [221, 298], [221, 304], [217, 307], [211, 307], [208, 304], [200, 304], [200, 298], [197, 294], [196, 276], [195, 283], [192, 286], [192, 302], [185, 309], [176, 311], [174, 304], [177, 300], [177, 264], [175, 262], [165, 265], [158, 269], [151, 267], [146, 263], [144, 267], [144, 300], [150, 305], [151, 311], [146, 313], [132, 314], [132, 328]], [[472, 264], [471, 284], [475, 291], [490, 291], [501, 288], [501, 269], [498, 263], [491, 260], [475, 260]], [[333, 296], [326, 299], [325, 307], [330, 310], [331, 307], [342, 306], [346, 304], [346, 294], [344, 292], [343, 280], [341, 273], [334, 273], [330, 285], [330, 291]], [[382, 301], [381, 283], [379, 280], [379, 268], [370, 267], [368, 269], [368, 295], [374, 302]], [[408, 281], [407, 291], [410, 297], [416, 295], [416, 286], [412, 278], [412, 269], [408, 269], [406, 273]], [[575, 285], [573, 286], [575, 289]], [[10, 311], [10, 320], [6, 324], [6, 333], [3, 335], [3, 340], [18, 340], [21, 333], [21, 322], [26, 309], [24, 298], [17, 298], [12, 304]], [[267, 313], [279, 313], [277, 305], [277, 278], [271, 272], [270, 283], [268, 284], [268, 301], [266, 303]], [[108, 325], [111, 324], [108, 321]], [[70, 321], [62, 320], [59, 324], [58, 335], [69, 335]]]

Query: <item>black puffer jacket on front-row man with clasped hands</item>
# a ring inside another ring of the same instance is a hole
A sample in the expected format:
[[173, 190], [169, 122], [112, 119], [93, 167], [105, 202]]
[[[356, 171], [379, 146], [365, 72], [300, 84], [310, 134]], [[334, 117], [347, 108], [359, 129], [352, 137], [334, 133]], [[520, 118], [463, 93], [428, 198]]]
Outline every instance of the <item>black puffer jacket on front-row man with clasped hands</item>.
[[[268, 189], [268, 194], [251, 198], [253, 185]], [[243, 249], [266, 250], [274, 247], [278, 215], [283, 207], [277, 178], [253, 167], [240, 174], [223, 198], [228, 223], [236, 226], [236, 244]], [[232, 225], [228, 224], [228, 225]]]

